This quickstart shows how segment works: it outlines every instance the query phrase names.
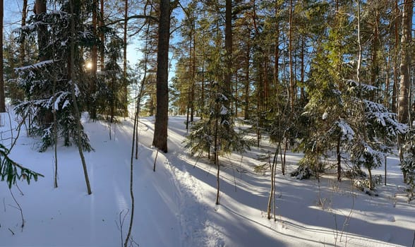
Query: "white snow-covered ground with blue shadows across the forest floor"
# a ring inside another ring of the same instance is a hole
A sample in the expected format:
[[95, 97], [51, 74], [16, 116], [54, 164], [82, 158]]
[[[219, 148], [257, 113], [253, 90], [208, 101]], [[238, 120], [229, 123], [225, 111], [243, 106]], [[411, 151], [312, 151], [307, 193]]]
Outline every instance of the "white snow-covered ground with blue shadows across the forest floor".
[[[169, 119], [169, 152], [150, 147], [152, 119], [140, 120], [139, 157], [134, 159], [136, 211], [133, 240], [140, 246], [413, 246], [415, 205], [408, 203], [396, 157], [388, 159], [387, 186], [378, 197], [323, 176], [298, 181], [277, 174], [277, 221], [266, 217], [269, 174], [255, 174], [253, 148], [221, 157], [221, 200], [215, 205], [216, 168], [183, 149], [185, 118]], [[7, 122], [7, 121], [5, 121]], [[16, 126], [16, 123], [13, 123]], [[112, 126], [85, 122], [95, 152], [85, 153], [92, 195], [85, 187], [76, 147], [59, 145], [59, 188], [53, 186], [54, 151], [37, 152], [38, 140], [20, 134], [11, 157], [41, 174], [12, 192], [0, 182], [0, 246], [121, 246], [128, 229], [131, 121]], [[7, 124], [1, 138], [10, 133]], [[16, 135], [15, 135], [16, 136]], [[8, 145], [10, 140], [4, 140]], [[288, 170], [301, 155], [289, 154]], [[380, 167], [375, 174], [383, 174]], [[21, 193], [20, 193], [20, 191]], [[320, 198], [320, 199], [319, 199]]]

